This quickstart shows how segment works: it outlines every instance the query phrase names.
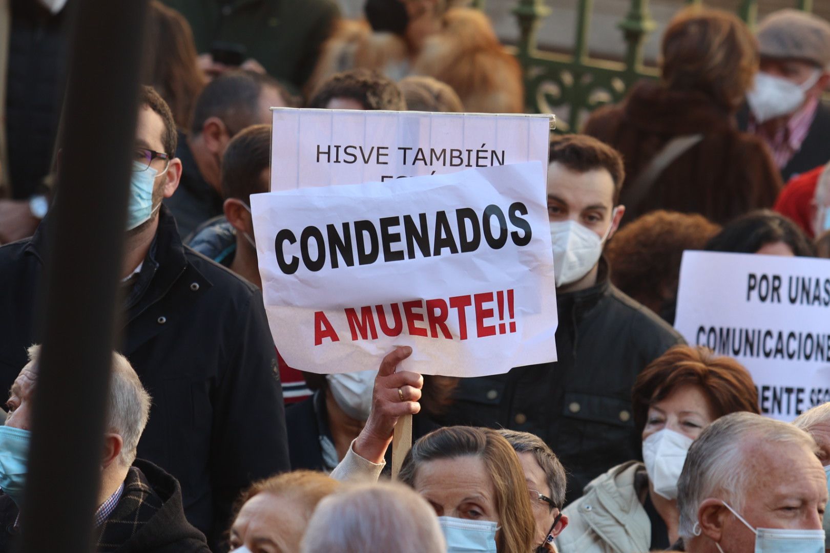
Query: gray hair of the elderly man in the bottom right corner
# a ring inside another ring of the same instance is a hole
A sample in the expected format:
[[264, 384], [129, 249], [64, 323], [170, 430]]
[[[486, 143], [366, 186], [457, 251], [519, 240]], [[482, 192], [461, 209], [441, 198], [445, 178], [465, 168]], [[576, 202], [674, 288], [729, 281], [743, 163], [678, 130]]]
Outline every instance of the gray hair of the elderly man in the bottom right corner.
[[715, 420], [691, 444], [677, 482], [681, 537], [695, 536], [697, 509], [707, 497], [722, 499], [738, 512], [744, 507], [746, 488], [758, 476], [748, 473], [744, 463], [746, 444], [755, 440], [770, 449], [790, 444], [818, 451], [809, 434], [780, 420], [747, 411]]

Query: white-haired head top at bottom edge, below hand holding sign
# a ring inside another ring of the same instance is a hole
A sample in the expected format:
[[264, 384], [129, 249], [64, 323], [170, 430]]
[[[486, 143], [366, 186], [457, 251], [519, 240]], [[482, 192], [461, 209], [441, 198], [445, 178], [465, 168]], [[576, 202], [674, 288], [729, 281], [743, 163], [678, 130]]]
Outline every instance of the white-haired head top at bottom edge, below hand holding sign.
[[347, 486], [325, 497], [305, 529], [301, 553], [445, 553], [435, 511], [399, 483]]

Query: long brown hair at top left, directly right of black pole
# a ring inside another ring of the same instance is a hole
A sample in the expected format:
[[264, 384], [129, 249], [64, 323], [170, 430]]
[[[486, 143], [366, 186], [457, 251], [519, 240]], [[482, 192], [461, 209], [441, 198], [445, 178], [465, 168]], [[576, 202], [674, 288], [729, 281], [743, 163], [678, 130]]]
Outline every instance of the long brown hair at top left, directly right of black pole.
[[153, 85], [173, 111], [179, 128], [188, 130], [193, 103], [205, 85], [188, 21], [158, 0], [150, 2], [144, 82]]

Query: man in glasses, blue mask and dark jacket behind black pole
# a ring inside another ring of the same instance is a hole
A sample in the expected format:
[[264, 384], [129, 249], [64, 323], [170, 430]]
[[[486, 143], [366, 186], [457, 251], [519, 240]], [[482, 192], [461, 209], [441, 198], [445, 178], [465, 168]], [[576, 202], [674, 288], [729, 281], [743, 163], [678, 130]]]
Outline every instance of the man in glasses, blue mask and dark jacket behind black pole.
[[[182, 174], [173, 115], [149, 87], [139, 106], [120, 351], [154, 397], [138, 455], [178, 478], [188, 521], [215, 547], [242, 489], [289, 465], [274, 342], [260, 291], [179, 239], [162, 205]], [[31, 239], [0, 247], [4, 390], [26, 364], [27, 347], [41, 342], [36, 307], [49, 224], [47, 216]]]

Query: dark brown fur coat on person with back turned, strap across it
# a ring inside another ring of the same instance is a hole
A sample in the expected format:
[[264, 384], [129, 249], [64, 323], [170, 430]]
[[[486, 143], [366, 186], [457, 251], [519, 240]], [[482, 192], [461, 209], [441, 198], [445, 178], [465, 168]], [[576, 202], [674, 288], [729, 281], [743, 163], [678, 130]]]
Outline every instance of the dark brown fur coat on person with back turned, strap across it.
[[703, 134], [666, 167], [639, 206], [626, 206], [624, 221], [667, 209], [701, 213], [722, 225], [747, 211], [772, 207], [782, 187], [760, 138], [741, 133], [728, 110], [695, 91], [643, 81], [621, 104], [594, 111], [583, 132], [623, 154], [623, 198], [671, 138]]

